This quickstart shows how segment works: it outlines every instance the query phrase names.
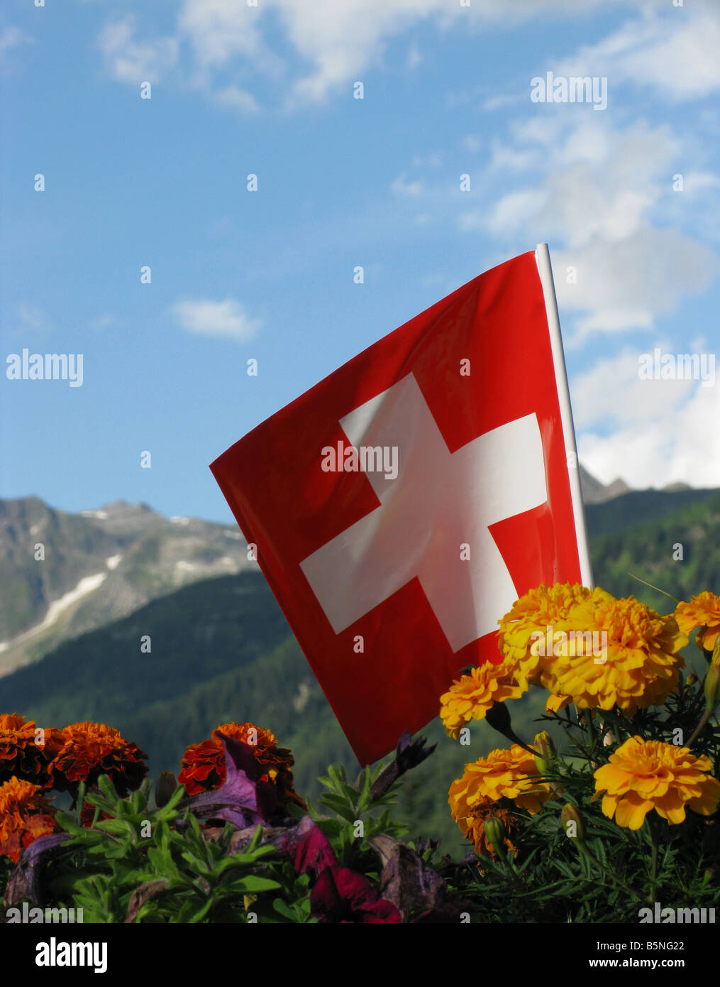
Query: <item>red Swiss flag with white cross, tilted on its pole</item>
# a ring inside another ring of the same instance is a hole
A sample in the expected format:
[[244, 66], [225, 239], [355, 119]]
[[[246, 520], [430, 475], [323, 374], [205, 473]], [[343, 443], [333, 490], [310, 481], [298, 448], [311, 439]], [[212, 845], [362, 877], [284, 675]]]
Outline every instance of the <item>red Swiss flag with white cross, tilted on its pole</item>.
[[210, 467], [361, 764], [436, 717], [459, 669], [500, 660], [497, 623], [519, 596], [582, 581], [558, 344], [559, 329], [553, 359], [524, 254]]

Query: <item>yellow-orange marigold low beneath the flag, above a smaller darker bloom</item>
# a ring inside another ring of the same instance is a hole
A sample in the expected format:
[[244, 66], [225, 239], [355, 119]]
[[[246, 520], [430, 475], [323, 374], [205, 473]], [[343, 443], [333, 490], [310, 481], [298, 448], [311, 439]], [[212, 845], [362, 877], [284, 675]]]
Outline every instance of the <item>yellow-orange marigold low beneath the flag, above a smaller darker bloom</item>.
[[465, 766], [462, 778], [450, 786], [449, 802], [456, 821], [468, 817], [481, 798], [512, 798], [531, 815], [552, 796], [549, 785], [538, 781], [535, 757], [514, 743], [510, 750], [493, 750]]

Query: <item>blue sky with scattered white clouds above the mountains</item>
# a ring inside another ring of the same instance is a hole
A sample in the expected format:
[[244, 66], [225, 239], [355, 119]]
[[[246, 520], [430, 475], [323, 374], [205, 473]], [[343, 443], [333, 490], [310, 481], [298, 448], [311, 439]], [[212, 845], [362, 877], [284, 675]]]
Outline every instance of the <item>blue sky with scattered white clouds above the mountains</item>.
[[702, 0], [6, 0], [2, 348], [83, 384], [2, 375], [0, 495], [227, 520], [216, 456], [541, 241], [581, 461], [720, 486], [720, 382], [638, 377], [720, 339], [718, 50]]

